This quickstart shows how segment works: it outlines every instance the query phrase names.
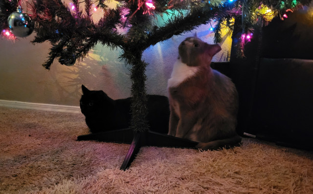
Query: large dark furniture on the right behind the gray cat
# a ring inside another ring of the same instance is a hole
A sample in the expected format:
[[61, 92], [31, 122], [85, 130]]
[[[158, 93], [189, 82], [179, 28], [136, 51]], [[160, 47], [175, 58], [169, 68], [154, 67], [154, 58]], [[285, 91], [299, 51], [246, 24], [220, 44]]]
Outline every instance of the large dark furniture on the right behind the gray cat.
[[[232, 78], [240, 97], [237, 131], [279, 145], [313, 150], [313, 18], [308, 8], [256, 28], [246, 58], [213, 65]], [[239, 41], [240, 32], [233, 37]]]

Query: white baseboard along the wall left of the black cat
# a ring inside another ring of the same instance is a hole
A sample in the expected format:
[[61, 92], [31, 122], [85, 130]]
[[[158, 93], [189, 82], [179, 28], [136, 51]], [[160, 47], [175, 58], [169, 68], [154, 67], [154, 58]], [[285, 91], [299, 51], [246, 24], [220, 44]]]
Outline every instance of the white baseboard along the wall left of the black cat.
[[80, 107], [75, 107], [75, 106], [26, 103], [26, 102], [10, 101], [10, 100], [0, 100], [0, 107], [81, 113]]

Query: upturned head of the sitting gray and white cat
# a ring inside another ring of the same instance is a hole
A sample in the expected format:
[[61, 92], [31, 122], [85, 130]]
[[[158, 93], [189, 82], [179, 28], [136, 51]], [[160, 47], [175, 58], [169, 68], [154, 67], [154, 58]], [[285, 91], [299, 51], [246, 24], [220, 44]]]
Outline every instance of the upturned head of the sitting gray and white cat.
[[188, 66], [201, 66], [211, 63], [212, 57], [222, 48], [218, 44], [208, 44], [197, 37], [188, 37], [179, 44], [181, 62]]

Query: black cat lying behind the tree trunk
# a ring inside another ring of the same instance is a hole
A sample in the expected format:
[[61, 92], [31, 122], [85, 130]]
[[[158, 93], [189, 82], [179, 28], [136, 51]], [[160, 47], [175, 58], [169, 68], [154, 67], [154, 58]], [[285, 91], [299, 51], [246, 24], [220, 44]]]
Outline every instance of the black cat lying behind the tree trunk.
[[[82, 90], [80, 108], [91, 132], [129, 128], [131, 97], [113, 100], [102, 90], [89, 90], [84, 85]], [[147, 98], [149, 113], [146, 119], [150, 130], [167, 133], [170, 118], [168, 98], [160, 95], [147, 95]]]

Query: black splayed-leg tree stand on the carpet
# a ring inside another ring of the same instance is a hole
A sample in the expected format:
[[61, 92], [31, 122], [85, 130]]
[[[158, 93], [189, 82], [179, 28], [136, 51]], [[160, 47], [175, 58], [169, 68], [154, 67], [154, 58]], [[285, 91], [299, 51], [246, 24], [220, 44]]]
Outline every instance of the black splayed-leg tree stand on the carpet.
[[78, 141], [95, 140], [131, 144], [120, 170], [125, 171], [133, 162], [135, 155], [143, 146], [175, 147], [196, 149], [198, 142], [157, 133], [154, 131], [135, 132], [133, 129], [119, 129], [100, 133], [80, 135]]

